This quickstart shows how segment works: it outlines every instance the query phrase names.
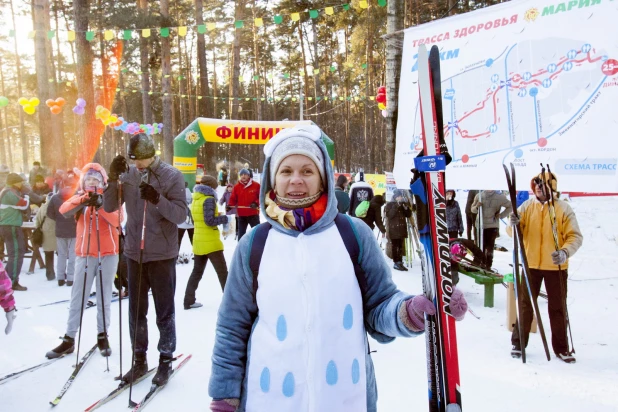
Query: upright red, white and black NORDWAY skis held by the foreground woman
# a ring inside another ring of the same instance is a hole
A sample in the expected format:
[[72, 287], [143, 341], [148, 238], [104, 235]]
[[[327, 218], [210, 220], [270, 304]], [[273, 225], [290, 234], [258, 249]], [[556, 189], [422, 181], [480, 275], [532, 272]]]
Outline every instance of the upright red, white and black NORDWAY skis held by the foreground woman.
[[427, 375], [430, 412], [461, 411], [459, 360], [450, 248], [446, 225], [444, 170], [450, 156], [444, 143], [440, 52], [436, 46], [418, 52], [423, 152], [415, 159], [417, 175], [410, 189], [415, 195], [417, 228], [422, 245], [423, 292], [437, 309], [426, 316]]

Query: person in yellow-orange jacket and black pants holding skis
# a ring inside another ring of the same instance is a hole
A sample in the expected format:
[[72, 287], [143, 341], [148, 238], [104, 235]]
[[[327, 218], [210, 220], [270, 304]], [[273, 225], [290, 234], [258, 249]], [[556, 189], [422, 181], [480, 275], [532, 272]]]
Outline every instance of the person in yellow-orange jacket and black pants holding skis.
[[[524, 249], [530, 268], [529, 281], [533, 299], [538, 298], [541, 283], [545, 282], [552, 334], [551, 343], [554, 353], [559, 359], [573, 363], [575, 357], [569, 350], [567, 339], [567, 269], [568, 259], [581, 247], [583, 236], [571, 206], [560, 199], [556, 199], [558, 180], [554, 174], [545, 173], [545, 177], [539, 174], [532, 179], [530, 186], [535, 196], [519, 206], [517, 209], [519, 218], [511, 213], [510, 221], [512, 226], [519, 223], [523, 233]], [[552, 219], [549, 213], [551, 203], [549, 190], [554, 193], [555, 199], [558, 248], [554, 243]], [[524, 290], [526, 289], [524, 288]], [[524, 297], [521, 301], [521, 321], [523, 322], [525, 347], [528, 345], [530, 325], [532, 324], [532, 302], [527, 292], [520, 294], [520, 296], [522, 295]], [[513, 328], [511, 343], [513, 345], [511, 355], [520, 356], [521, 339], [518, 328]]]

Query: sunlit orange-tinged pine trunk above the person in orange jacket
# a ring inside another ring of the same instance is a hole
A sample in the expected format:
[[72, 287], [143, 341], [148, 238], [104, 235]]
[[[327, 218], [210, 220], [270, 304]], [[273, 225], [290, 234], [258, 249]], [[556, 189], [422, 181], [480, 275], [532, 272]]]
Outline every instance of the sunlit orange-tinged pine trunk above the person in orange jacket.
[[[73, 12], [75, 21], [75, 47], [77, 51], [77, 92], [78, 96], [86, 101], [86, 112], [79, 118], [78, 136], [83, 140], [89, 124], [94, 124], [94, 85], [92, 76], [92, 48], [86, 40], [86, 31], [89, 23], [89, 0], [73, 0]], [[90, 161], [84, 154], [77, 150], [77, 161], [81, 166]], [[80, 155], [81, 154], [81, 155]]]

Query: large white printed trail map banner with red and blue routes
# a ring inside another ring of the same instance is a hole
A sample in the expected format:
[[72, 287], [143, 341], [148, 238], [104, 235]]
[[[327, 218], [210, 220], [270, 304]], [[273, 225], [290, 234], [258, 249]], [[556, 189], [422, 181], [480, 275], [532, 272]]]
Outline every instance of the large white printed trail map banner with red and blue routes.
[[540, 163], [559, 190], [618, 192], [618, 0], [518, 0], [405, 32], [395, 179], [422, 149], [417, 53], [437, 45], [453, 189], [527, 190]]

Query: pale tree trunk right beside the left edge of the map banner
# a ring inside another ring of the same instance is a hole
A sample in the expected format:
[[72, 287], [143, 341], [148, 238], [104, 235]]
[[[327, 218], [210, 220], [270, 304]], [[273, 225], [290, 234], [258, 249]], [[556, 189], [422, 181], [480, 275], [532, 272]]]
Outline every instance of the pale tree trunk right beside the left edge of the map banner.
[[[401, 78], [401, 54], [403, 50], [403, 6], [399, 1], [387, 5], [386, 32], [386, 169], [395, 166], [397, 142], [397, 117], [399, 110], [399, 79]], [[396, 33], [399, 32], [399, 33]], [[396, 33], [396, 34], [395, 34]]]

